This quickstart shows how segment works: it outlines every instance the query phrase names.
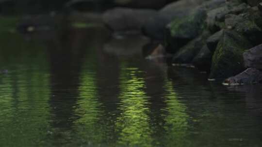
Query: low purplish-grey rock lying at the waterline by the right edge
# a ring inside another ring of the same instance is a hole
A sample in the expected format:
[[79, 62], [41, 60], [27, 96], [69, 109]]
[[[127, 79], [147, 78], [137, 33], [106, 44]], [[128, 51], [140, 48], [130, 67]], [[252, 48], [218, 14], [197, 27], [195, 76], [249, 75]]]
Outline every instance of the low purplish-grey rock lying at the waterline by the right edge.
[[248, 68], [236, 76], [229, 77], [224, 81], [224, 85], [246, 85], [262, 82], [262, 72], [255, 68]]

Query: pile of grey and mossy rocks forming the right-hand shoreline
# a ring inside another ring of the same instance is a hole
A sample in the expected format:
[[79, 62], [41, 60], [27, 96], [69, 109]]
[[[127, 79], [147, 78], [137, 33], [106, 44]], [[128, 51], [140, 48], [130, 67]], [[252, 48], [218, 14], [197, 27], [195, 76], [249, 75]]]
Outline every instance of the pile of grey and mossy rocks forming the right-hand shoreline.
[[114, 33], [143, 33], [163, 45], [175, 65], [192, 64], [228, 85], [253, 84], [262, 82], [261, 2], [179, 0], [160, 10], [117, 7], [102, 19]]

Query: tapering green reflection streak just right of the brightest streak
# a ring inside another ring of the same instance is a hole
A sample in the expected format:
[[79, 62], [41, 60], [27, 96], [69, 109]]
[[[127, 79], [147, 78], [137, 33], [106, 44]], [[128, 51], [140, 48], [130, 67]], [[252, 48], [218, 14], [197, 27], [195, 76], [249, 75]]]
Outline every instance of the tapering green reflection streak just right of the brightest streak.
[[166, 80], [164, 88], [166, 90], [166, 94], [164, 95], [166, 108], [164, 111], [167, 111], [164, 125], [166, 131], [164, 137], [165, 146], [188, 147], [189, 145], [186, 143], [185, 138], [189, 127], [189, 116], [186, 113], [186, 106], [178, 100], [172, 81]]

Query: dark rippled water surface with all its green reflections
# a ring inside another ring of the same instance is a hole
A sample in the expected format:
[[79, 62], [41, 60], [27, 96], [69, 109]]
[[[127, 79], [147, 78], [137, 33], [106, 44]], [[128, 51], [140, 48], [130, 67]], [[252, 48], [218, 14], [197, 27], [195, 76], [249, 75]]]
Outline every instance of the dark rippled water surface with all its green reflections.
[[144, 59], [143, 37], [105, 36], [0, 36], [0, 147], [262, 147], [261, 86], [208, 82]]

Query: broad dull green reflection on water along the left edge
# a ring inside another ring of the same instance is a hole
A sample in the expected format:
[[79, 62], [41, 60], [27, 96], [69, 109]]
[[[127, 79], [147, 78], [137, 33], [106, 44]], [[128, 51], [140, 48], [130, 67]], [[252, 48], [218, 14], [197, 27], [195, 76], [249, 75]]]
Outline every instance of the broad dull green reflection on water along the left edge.
[[[17, 34], [0, 40], [0, 146], [41, 146], [49, 128], [49, 62], [38, 43]], [[15, 42], [15, 43], [11, 43]]]

